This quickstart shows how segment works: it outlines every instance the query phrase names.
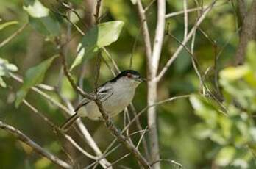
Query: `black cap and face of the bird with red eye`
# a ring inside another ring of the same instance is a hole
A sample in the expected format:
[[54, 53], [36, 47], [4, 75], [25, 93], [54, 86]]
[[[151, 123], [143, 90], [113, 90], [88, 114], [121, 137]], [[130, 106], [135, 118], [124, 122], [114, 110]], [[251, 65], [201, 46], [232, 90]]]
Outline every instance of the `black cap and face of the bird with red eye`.
[[115, 76], [115, 78], [112, 79], [110, 82], [116, 82], [118, 79], [122, 77], [127, 77], [128, 79], [134, 79], [135, 81], [138, 81], [138, 82], [145, 81], [145, 79], [141, 77], [141, 74], [138, 73], [138, 71], [125, 70], [119, 73], [117, 76]]

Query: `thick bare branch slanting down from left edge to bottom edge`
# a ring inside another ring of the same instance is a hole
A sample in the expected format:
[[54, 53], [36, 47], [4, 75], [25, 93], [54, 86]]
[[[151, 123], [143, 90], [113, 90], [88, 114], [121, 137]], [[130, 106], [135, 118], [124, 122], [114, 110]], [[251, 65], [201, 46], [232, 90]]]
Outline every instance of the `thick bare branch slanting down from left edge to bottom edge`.
[[59, 165], [61, 168], [72, 168], [72, 166], [69, 165], [67, 162], [64, 162], [62, 159], [59, 159], [58, 157], [54, 156], [54, 154], [49, 153], [49, 151], [46, 151], [40, 145], [35, 143], [29, 137], [27, 137], [26, 134], [22, 133], [18, 129], [15, 129], [13, 126], [10, 126], [0, 121], [0, 128], [4, 129], [10, 134], [13, 134], [15, 137], [18, 138], [18, 140], [21, 140], [23, 143], [25, 143], [26, 145], [31, 147], [33, 150], [35, 150], [38, 154], [51, 160], [51, 162], [54, 162], [54, 164]]

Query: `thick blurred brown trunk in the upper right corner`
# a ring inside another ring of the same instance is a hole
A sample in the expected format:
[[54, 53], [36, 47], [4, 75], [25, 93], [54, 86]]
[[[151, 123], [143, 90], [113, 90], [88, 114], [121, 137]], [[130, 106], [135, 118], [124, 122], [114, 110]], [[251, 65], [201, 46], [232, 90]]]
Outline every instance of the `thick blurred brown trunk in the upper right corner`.
[[235, 54], [235, 64], [241, 65], [245, 60], [246, 47], [249, 40], [253, 40], [256, 35], [256, 0], [252, 1], [251, 9], [244, 18], [242, 32]]

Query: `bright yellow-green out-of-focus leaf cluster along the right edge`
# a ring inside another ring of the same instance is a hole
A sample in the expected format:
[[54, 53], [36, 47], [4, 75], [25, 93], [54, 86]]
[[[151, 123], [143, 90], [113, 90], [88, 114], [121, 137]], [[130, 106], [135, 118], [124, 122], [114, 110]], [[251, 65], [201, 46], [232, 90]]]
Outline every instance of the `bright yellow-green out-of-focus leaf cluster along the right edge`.
[[202, 122], [196, 124], [196, 136], [216, 143], [211, 155], [216, 165], [236, 168], [255, 168], [256, 126], [255, 102], [255, 55], [256, 43], [247, 49], [244, 65], [221, 70], [219, 82], [223, 88], [227, 114], [213, 107], [213, 101], [191, 97], [191, 104]]

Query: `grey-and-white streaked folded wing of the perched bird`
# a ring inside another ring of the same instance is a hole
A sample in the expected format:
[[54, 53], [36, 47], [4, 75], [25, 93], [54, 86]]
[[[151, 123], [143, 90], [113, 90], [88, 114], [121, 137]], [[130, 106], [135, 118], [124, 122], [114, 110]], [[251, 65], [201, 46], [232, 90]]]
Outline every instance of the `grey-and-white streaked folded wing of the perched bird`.
[[[102, 87], [99, 87], [97, 90], [97, 95], [99, 97], [100, 101], [105, 101], [107, 98], [109, 98], [113, 92], [112, 92], [113, 87], [111, 87], [108, 84], [104, 84]], [[95, 95], [94, 93], [90, 93], [90, 95]], [[79, 102], [77, 105], [76, 109], [74, 110], [77, 112], [81, 107], [85, 106], [90, 102], [90, 99], [88, 98], [83, 98], [82, 101]]]

